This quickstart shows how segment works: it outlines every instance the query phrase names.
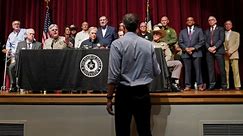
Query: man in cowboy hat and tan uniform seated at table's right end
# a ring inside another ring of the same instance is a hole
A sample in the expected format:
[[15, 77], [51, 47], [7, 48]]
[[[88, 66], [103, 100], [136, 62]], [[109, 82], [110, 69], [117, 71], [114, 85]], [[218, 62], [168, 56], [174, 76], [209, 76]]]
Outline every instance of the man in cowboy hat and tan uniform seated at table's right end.
[[180, 92], [180, 88], [178, 86], [179, 79], [181, 75], [182, 64], [179, 60], [173, 60], [173, 54], [165, 42], [162, 42], [161, 39], [165, 36], [165, 31], [161, 30], [158, 26], [155, 26], [153, 29], [153, 45], [155, 48], [161, 48], [164, 53], [164, 57], [169, 68], [172, 68], [172, 86], [171, 89], [174, 92]]

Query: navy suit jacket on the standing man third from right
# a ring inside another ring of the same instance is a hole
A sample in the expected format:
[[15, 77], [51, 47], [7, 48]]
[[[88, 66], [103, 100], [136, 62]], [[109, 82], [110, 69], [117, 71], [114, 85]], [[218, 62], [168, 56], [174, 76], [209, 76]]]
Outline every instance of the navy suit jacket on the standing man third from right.
[[[181, 58], [202, 57], [202, 46], [204, 45], [204, 35], [201, 28], [194, 26], [192, 30], [191, 39], [188, 34], [188, 29], [181, 30], [179, 34], [179, 46], [182, 48]], [[196, 50], [193, 51], [192, 55], [188, 54], [185, 49], [194, 47]]]

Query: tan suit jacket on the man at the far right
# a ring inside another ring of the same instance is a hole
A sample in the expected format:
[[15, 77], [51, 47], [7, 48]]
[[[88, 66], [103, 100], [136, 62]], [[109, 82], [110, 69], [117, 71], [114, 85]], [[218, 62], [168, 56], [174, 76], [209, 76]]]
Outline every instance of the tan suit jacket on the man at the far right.
[[224, 42], [224, 48], [227, 50], [231, 56], [229, 59], [239, 59], [238, 48], [240, 45], [240, 34], [235, 31], [231, 31], [229, 35], [229, 40]]

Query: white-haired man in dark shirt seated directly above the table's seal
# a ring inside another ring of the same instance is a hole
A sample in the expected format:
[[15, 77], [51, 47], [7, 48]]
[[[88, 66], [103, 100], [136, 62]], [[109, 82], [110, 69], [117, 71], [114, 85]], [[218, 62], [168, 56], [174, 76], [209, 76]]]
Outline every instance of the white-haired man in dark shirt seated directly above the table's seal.
[[99, 48], [104, 48], [104, 47], [101, 46], [101, 44], [99, 43], [99, 40], [96, 37], [97, 28], [96, 27], [90, 27], [88, 32], [89, 32], [89, 39], [84, 40], [81, 43], [80, 48], [81, 49], [99, 49]]

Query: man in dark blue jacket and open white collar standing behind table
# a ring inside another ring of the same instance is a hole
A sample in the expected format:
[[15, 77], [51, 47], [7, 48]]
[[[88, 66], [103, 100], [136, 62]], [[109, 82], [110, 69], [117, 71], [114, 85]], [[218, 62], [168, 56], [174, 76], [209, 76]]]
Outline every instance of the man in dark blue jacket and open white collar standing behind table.
[[110, 48], [111, 42], [117, 39], [117, 33], [114, 27], [108, 26], [108, 19], [106, 16], [101, 16], [100, 28], [97, 31], [97, 38], [101, 45]]

